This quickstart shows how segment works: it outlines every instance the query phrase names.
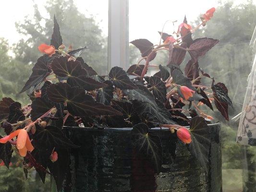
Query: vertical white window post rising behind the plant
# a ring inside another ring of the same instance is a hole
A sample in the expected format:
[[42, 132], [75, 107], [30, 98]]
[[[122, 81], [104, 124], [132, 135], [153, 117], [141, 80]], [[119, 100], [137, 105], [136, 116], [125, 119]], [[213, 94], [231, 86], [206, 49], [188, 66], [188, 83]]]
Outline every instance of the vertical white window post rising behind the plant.
[[108, 71], [129, 63], [128, 0], [109, 0]]

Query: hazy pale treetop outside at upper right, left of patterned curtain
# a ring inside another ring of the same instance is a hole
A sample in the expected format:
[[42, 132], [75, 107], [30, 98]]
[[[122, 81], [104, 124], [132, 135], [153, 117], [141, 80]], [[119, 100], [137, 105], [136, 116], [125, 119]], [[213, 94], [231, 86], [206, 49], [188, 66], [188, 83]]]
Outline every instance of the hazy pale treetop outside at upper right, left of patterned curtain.
[[[195, 24], [199, 22], [200, 18]], [[194, 34], [219, 39], [219, 44], [210, 50], [210, 54], [199, 60], [199, 66], [228, 87], [234, 108], [237, 108], [230, 111], [231, 115], [239, 113], [243, 105], [254, 57], [249, 43], [255, 25], [256, 5], [252, 0], [236, 6], [227, 2], [219, 6], [207, 25]]]

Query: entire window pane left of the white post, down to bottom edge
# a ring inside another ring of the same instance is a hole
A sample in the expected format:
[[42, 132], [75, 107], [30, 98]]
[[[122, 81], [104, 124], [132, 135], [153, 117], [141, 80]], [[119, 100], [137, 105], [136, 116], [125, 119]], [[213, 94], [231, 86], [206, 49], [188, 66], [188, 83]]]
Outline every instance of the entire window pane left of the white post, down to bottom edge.
[[[18, 94], [42, 56], [38, 46], [50, 44], [53, 15], [60, 25], [65, 50], [84, 48], [81, 57], [99, 75], [108, 69], [108, 0], [3, 0], [0, 5], [0, 98], [11, 97], [22, 106], [31, 103]], [[56, 48], [57, 49], [57, 48]], [[1, 135], [3, 129], [0, 129]], [[14, 153], [13, 153], [14, 154]], [[10, 170], [0, 167], [0, 191], [49, 192], [49, 175], [43, 184], [35, 169], [26, 181], [20, 157]], [[8, 182], [7, 182], [8, 180]]]

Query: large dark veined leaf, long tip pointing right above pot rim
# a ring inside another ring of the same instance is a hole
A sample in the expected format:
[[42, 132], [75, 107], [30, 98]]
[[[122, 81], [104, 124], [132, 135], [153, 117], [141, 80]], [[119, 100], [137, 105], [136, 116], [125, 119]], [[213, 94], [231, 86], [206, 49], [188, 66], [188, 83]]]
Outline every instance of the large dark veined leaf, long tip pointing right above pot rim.
[[47, 89], [47, 94], [49, 99], [53, 102], [66, 102], [68, 111], [74, 116], [122, 115], [119, 111], [110, 106], [95, 103], [94, 98], [85, 95], [83, 89], [79, 87], [71, 87], [69, 84], [51, 84]]

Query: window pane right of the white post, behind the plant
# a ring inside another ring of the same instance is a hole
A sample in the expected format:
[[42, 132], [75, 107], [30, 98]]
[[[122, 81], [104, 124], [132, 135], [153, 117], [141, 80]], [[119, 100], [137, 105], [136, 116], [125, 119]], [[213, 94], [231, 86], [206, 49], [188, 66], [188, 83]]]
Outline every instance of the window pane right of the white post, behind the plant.
[[[201, 26], [192, 38], [219, 39], [219, 44], [199, 59], [199, 67], [214, 77], [216, 83], [222, 82], [227, 86], [233, 103], [233, 108], [229, 108], [230, 121], [225, 120], [217, 108], [214, 112], [207, 111], [222, 123], [223, 192], [252, 192], [256, 186], [256, 147], [236, 143], [239, 120], [232, 120], [232, 117], [242, 110], [247, 77], [255, 56], [249, 43], [256, 26], [256, 1], [220, 3], [219, 0], [198, 0], [195, 5], [195, 1], [187, 0], [129, 0], [129, 40], [146, 38], [157, 45], [160, 40], [158, 31], [162, 31], [167, 20], [163, 32], [175, 35], [173, 31], [177, 32], [184, 15], [194, 28], [199, 24], [200, 16], [212, 7], [216, 7], [213, 18], [205, 27]], [[159, 64], [167, 65], [168, 54], [166, 50], [158, 51], [156, 59], [150, 62], [152, 67], [147, 72], [148, 76], [159, 71]], [[140, 58], [138, 49], [130, 45], [130, 65], [136, 64]], [[189, 59], [187, 54], [181, 69]], [[145, 63], [145, 60], [140, 63]]]

